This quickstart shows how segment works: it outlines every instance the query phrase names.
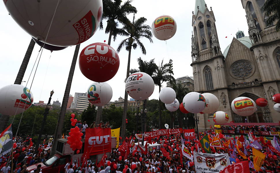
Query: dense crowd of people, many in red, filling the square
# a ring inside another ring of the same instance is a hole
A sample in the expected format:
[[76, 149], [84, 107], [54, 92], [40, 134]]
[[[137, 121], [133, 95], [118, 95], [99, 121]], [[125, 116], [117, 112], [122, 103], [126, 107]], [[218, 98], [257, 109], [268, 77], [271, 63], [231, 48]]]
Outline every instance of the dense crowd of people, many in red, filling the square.
[[[85, 125], [86, 122], [83, 123], [81, 126], [81, 130], [83, 130], [83, 127], [87, 127]], [[93, 123], [94, 124], [94, 123]], [[78, 126], [78, 125], [77, 125]], [[79, 127], [79, 126], [78, 126]], [[94, 126], [90, 126], [94, 127]], [[95, 126], [96, 127], [96, 126]], [[100, 123], [100, 126], [102, 127], [102, 123]], [[96, 127], [96, 128], [98, 128]], [[104, 127], [106, 127], [104, 125]], [[88, 128], [88, 127], [87, 127]], [[240, 128], [244, 130], [255, 130], [258, 129], [260, 131], [277, 131], [278, 128], [272, 127], [272, 126], [235, 126], [235, 127], [222, 127], [222, 129], [234, 129], [234, 128]], [[212, 138], [215, 136], [214, 129], [210, 129], [208, 131], [199, 132], [197, 134], [199, 136], [199, 139], [194, 140], [186, 140], [183, 141], [186, 148], [189, 150], [190, 153], [195, 152], [203, 152], [205, 153], [204, 148], [201, 146], [199, 140], [203, 138], [205, 135], [208, 135], [209, 140], [211, 142]], [[253, 135], [252, 135], [253, 136]], [[244, 135], [245, 140], [246, 135]], [[130, 136], [129, 138], [124, 139], [126, 142], [130, 143], [131, 141], [137, 142], [134, 140], [135, 138], [133, 136]], [[225, 143], [229, 136], [226, 135], [219, 135], [219, 139], [221, 140], [221, 143]], [[262, 153], [266, 154], [266, 159], [264, 160], [264, 163], [261, 167], [260, 171], [255, 171], [252, 166], [250, 166], [250, 172], [251, 173], [280, 173], [280, 155], [278, 153], [273, 153], [270, 148], [268, 148], [266, 141], [260, 140], [257, 136], [254, 136], [255, 140], [259, 141], [259, 144], [262, 146], [261, 151]], [[264, 138], [265, 139], [265, 138]], [[35, 163], [40, 163], [42, 161], [45, 161], [50, 157], [50, 150], [48, 149], [51, 147], [53, 138], [45, 139], [42, 145], [40, 145], [39, 149], [37, 151], [34, 150], [34, 147], [29, 147], [29, 137], [27, 137], [25, 140], [21, 137], [15, 137], [14, 142], [17, 144], [17, 147], [13, 149], [12, 157], [3, 155], [0, 159], [0, 173], [28, 173], [27, 167], [30, 165], [33, 165]], [[146, 139], [147, 140], [147, 139]], [[124, 156], [121, 151], [119, 151], [118, 148], [113, 148], [111, 153], [103, 156], [102, 160], [98, 163], [87, 160], [86, 162], [81, 161], [80, 164], [77, 163], [77, 161], [69, 161], [65, 167], [64, 170], [60, 170], [60, 173], [195, 173], [195, 165], [193, 160], [188, 159], [187, 157], [182, 158], [182, 162], [180, 160], [180, 149], [181, 149], [181, 134], [177, 135], [169, 135], [169, 136], [160, 136], [152, 139], [153, 142], [157, 142], [158, 144], [161, 144], [160, 147], [154, 147], [149, 148], [147, 154], [143, 154], [141, 151], [139, 151], [137, 148], [134, 150], [133, 145], [134, 142], [130, 143], [130, 151], [126, 153]], [[252, 147], [244, 146], [243, 148], [240, 148], [240, 150], [243, 153], [246, 153], [247, 159], [242, 158], [240, 155], [238, 155], [238, 152], [236, 150], [233, 150], [234, 147], [236, 147], [236, 141], [237, 138], [233, 138], [232, 142], [233, 144], [230, 146], [223, 146], [222, 148], [213, 148], [211, 147], [211, 151], [213, 154], [222, 154], [222, 153], [228, 153], [229, 157], [232, 157], [238, 161], [243, 160], [249, 160], [253, 162], [253, 152]], [[277, 142], [279, 142], [278, 136], [277, 136]], [[122, 142], [120, 142], [122, 144]], [[164, 148], [167, 152], [163, 153], [161, 148]], [[280, 152], [280, 151], [279, 151]], [[268, 155], [272, 155], [273, 157], [268, 157]], [[10, 159], [9, 159], [10, 157]], [[7, 161], [10, 160], [8, 163]], [[8, 165], [7, 165], [8, 164]], [[34, 170], [35, 173], [45, 173], [44, 170], [40, 169], [40, 165], [38, 165], [38, 168]], [[135, 166], [134, 166], [135, 165]], [[13, 170], [11, 170], [11, 166], [13, 167]], [[31, 173], [33, 173], [31, 172]]]

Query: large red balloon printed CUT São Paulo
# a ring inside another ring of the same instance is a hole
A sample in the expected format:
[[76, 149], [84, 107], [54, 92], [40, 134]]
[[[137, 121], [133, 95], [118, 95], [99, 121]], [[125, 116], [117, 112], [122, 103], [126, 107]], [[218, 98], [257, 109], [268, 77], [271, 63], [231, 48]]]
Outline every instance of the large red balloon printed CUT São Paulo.
[[108, 44], [90, 44], [80, 53], [80, 70], [86, 78], [94, 82], [110, 80], [117, 73], [119, 66], [119, 55]]

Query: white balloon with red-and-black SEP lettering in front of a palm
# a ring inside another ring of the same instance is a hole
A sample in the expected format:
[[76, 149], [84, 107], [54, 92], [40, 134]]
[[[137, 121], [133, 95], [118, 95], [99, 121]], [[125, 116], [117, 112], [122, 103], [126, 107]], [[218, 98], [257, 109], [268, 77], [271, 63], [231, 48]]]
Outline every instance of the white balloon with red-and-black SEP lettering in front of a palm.
[[[125, 83], [126, 92], [135, 100], [145, 100], [154, 92], [154, 80], [144, 72], [131, 74]], [[174, 100], [173, 100], [174, 101]]]

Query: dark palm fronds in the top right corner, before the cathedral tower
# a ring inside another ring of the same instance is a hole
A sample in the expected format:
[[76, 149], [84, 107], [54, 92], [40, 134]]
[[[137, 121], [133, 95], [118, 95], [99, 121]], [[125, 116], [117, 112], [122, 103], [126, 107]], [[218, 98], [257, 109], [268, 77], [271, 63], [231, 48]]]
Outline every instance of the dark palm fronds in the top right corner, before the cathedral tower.
[[279, 0], [266, 0], [262, 7], [265, 15], [269, 16], [266, 21], [267, 26], [272, 26], [276, 22], [276, 31], [280, 30], [280, 1]]

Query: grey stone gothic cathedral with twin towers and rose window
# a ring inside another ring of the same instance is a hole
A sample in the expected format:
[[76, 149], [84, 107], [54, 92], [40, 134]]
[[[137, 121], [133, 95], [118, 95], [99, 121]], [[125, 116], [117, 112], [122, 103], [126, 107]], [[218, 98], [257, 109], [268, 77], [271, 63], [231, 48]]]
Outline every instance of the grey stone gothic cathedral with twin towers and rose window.
[[[272, 101], [272, 95], [280, 91], [280, 32], [276, 32], [275, 25], [266, 26], [267, 16], [261, 8], [264, 2], [241, 0], [249, 36], [238, 31], [223, 53], [212, 8], [209, 11], [204, 0], [195, 3], [191, 39], [195, 91], [216, 95], [220, 101], [218, 110], [229, 114], [229, 122], [278, 123], [280, 120]], [[265, 98], [268, 106], [257, 106], [251, 116], [238, 116], [231, 110], [231, 102], [240, 96], [254, 101]], [[213, 114], [197, 115], [200, 128], [213, 125]]]

